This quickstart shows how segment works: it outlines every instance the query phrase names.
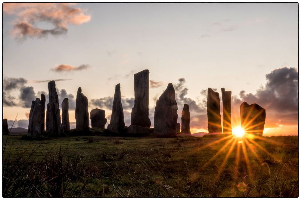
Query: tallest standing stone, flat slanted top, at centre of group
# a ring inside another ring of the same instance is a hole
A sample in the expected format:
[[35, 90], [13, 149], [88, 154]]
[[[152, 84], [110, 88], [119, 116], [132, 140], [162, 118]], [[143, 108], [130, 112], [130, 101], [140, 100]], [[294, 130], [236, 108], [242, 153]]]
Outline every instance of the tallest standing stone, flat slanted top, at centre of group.
[[151, 127], [148, 118], [149, 104], [149, 71], [143, 70], [134, 74], [135, 104], [131, 113], [131, 124], [141, 127]]

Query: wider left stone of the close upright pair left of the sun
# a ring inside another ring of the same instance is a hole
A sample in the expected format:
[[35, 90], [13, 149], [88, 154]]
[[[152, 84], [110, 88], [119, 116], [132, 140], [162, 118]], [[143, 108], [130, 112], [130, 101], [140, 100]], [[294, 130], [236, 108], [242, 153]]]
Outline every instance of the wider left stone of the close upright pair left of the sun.
[[220, 109], [221, 102], [219, 100], [219, 93], [208, 88], [207, 116], [209, 133], [222, 133]]

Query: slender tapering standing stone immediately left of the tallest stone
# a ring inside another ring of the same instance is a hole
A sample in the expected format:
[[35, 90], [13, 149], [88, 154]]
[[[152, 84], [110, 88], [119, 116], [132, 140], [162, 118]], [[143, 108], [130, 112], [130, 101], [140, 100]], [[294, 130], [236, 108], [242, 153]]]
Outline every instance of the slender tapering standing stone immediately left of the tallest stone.
[[114, 133], [121, 133], [124, 129], [123, 108], [121, 104], [120, 84], [115, 86], [112, 115], [108, 130]]

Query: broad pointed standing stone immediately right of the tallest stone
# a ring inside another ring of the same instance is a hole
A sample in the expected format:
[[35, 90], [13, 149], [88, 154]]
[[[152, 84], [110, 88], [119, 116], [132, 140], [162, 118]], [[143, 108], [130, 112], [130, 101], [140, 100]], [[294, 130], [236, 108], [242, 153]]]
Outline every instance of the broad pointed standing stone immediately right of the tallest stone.
[[178, 105], [175, 100], [175, 89], [169, 83], [166, 90], [157, 100], [154, 115], [154, 134], [160, 137], [177, 135]]

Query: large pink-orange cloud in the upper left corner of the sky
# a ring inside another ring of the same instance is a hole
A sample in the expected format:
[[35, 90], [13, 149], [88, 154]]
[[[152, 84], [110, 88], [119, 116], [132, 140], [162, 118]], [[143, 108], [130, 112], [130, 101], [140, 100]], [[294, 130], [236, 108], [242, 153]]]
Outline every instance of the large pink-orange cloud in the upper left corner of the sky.
[[[80, 8], [70, 3], [4, 3], [3, 12], [16, 15], [10, 34], [17, 40], [66, 34], [69, 25], [80, 25], [91, 20]], [[38, 23], [46, 22], [54, 28], [43, 29]]]

